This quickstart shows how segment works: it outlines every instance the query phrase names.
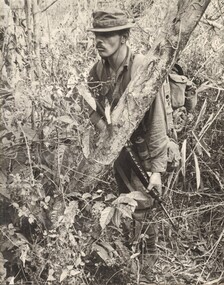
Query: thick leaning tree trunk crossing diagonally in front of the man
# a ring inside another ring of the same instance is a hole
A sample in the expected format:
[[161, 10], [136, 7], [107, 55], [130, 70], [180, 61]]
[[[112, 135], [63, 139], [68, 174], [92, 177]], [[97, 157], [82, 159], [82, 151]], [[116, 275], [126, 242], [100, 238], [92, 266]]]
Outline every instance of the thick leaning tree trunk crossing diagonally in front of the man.
[[79, 182], [73, 183], [71, 190], [85, 190], [86, 187], [95, 185], [97, 178], [100, 179], [106, 173], [150, 108], [209, 2], [210, 0], [175, 0], [170, 3], [170, 11], [158, 39], [112, 113], [112, 134], [100, 134], [91, 157], [83, 159], [79, 165], [78, 171], [82, 175]]

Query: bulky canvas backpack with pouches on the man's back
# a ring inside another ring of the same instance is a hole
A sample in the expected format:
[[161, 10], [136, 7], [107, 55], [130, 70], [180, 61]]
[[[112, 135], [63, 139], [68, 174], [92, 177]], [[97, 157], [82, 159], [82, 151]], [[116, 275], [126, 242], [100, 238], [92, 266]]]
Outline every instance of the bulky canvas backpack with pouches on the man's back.
[[168, 171], [176, 169], [180, 164], [178, 133], [183, 131], [187, 123], [187, 115], [197, 104], [195, 86], [183, 74], [182, 68], [175, 64], [163, 84], [164, 107], [167, 121]]

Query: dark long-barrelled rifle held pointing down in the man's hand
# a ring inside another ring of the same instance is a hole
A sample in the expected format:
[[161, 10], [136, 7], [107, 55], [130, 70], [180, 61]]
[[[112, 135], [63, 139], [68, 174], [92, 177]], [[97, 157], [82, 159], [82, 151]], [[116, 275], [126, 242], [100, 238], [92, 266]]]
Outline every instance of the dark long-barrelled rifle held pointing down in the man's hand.
[[149, 185], [149, 176], [145, 171], [145, 169], [141, 166], [138, 156], [132, 150], [131, 146], [126, 146], [125, 150], [128, 155], [128, 160], [130, 161], [132, 169], [134, 170], [134, 172], [136, 173], [136, 175], [138, 176], [139, 180], [141, 181], [142, 185], [145, 188], [144, 194], [149, 194], [153, 199], [155, 199], [158, 202], [159, 206], [161, 207], [161, 209], [169, 219], [173, 229], [178, 233], [178, 235], [181, 236], [181, 234], [178, 232], [176, 225], [172, 221], [168, 211], [166, 210], [158, 190], [155, 187], [153, 187], [151, 190], [147, 190], [147, 187]]

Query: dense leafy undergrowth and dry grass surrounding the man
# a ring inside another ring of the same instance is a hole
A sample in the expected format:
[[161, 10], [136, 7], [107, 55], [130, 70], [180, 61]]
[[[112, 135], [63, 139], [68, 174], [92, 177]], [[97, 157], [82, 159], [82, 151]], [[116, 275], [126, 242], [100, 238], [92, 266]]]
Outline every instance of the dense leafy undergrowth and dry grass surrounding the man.
[[[142, 197], [117, 197], [112, 171], [88, 193], [72, 187], [97, 135], [84, 103], [83, 83], [97, 57], [87, 27], [93, 9], [119, 5], [136, 21], [129, 44], [145, 53], [168, 4], [1, 2], [1, 284], [136, 284], [139, 251], [127, 246], [122, 228], [131, 228]], [[159, 261], [152, 281], [159, 284], [223, 280], [223, 13], [223, 1], [213, 0], [180, 59], [198, 105], [179, 135], [182, 168], [164, 177], [180, 234], [154, 210]]]

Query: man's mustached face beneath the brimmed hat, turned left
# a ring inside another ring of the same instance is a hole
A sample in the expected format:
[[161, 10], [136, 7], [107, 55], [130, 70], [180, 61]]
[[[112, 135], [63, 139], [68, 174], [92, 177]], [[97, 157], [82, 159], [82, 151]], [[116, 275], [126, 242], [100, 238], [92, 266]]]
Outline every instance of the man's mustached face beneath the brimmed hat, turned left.
[[116, 32], [95, 32], [96, 48], [102, 58], [113, 56], [121, 44], [121, 36]]

